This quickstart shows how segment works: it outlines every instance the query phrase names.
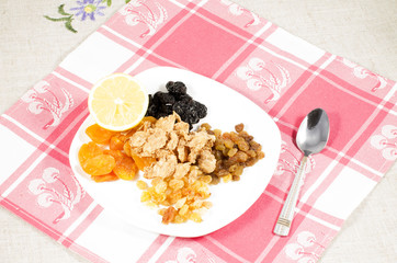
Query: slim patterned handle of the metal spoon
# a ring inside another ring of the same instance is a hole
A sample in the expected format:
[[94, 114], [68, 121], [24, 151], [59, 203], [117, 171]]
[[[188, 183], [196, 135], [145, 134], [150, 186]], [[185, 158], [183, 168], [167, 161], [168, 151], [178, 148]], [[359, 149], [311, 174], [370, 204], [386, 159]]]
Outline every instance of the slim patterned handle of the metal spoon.
[[307, 156], [300, 161], [300, 167], [298, 172], [295, 175], [294, 182], [290, 188], [288, 196], [285, 199], [283, 209], [280, 213], [277, 222], [275, 224], [273, 232], [279, 236], [288, 236], [291, 224], [294, 218], [295, 207], [297, 198], [299, 196], [300, 186], [304, 183], [305, 178], [305, 167], [306, 167]]

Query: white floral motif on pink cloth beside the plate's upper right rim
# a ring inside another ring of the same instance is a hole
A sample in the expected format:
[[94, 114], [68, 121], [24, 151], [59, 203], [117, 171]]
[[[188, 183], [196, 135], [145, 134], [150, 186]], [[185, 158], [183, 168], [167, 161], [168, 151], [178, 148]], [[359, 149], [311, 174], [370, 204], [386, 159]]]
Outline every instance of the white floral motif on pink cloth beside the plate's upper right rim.
[[239, 67], [236, 71], [237, 77], [247, 82], [248, 89], [257, 91], [268, 88], [272, 92], [264, 103], [279, 100], [281, 90], [291, 82], [290, 72], [284, 67], [273, 61], [270, 61], [269, 65], [280, 71], [280, 78], [268, 69], [268, 65], [262, 59], [256, 57], [251, 58], [247, 66]]

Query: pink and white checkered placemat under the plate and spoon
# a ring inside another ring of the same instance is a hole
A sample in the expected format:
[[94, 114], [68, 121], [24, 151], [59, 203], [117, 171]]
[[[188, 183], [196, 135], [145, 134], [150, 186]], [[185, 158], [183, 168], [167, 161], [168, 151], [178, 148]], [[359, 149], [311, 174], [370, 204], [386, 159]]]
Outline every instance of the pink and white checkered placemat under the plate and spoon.
[[[76, 181], [68, 150], [92, 84], [112, 72], [188, 69], [246, 95], [276, 122], [282, 153], [240, 218], [201, 238], [121, 222]], [[397, 158], [397, 84], [225, 0], [132, 0], [0, 117], [0, 204], [92, 262], [316, 262]], [[287, 238], [272, 233], [302, 153], [297, 127], [327, 111]]]

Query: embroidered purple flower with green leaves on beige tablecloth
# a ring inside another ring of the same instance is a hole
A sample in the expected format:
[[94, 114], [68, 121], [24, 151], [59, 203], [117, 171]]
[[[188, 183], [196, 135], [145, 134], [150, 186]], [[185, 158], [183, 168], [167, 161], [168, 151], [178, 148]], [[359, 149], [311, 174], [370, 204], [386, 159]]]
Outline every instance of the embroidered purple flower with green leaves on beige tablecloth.
[[[129, 1], [131, 0], [125, 0], [126, 3]], [[104, 2], [106, 3], [104, 4]], [[65, 27], [68, 31], [77, 33], [78, 31], [72, 25], [75, 16], [79, 18], [81, 15], [81, 21], [86, 21], [87, 16], [90, 18], [91, 21], [95, 21], [95, 15], [104, 15], [101, 11], [106, 9], [106, 7], [111, 7], [112, 0], [82, 0], [76, 1], [76, 4], [77, 7], [69, 9], [72, 13], [66, 12], [65, 3], [63, 3], [58, 7], [58, 14], [60, 14], [60, 18], [50, 18], [48, 15], [44, 15], [44, 18], [53, 22], [64, 22]]]

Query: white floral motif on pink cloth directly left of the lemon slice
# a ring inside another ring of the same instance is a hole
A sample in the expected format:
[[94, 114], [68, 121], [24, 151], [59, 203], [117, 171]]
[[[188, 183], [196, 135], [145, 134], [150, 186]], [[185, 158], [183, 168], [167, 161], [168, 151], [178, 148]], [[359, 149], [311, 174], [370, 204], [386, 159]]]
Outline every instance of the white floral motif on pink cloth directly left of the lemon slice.
[[[22, 101], [29, 103], [27, 111], [33, 114], [41, 114], [43, 111], [48, 112], [53, 118], [43, 128], [57, 126], [65, 112], [73, 106], [73, 99], [70, 93], [64, 88], [59, 88], [64, 93], [65, 101], [61, 102], [57, 95], [49, 89], [47, 81], [39, 81], [29, 90], [23, 96]], [[45, 94], [49, 94], [50, 99], [44, 98]]]

